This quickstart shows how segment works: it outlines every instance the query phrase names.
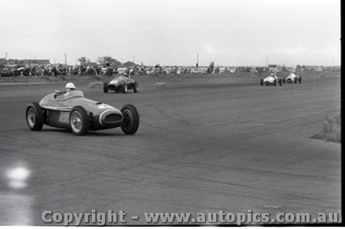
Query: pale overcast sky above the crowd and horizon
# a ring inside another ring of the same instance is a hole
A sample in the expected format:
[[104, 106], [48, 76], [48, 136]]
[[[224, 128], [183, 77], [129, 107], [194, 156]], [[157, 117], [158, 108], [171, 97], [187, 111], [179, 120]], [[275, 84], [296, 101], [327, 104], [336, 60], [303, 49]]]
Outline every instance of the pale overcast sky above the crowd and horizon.
[[0, 58], [340, 65], [340, 0], [0, 0]]

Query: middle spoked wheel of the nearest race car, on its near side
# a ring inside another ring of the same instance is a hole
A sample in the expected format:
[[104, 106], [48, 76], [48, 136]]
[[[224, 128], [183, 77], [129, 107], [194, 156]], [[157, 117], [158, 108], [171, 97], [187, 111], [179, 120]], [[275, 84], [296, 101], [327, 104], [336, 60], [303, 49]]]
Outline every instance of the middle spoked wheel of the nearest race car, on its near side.
[[70, 111], [70, 129], [75, 135], [85, 135], [88, 132], [88, 113], [81, 106], [75, 106]]

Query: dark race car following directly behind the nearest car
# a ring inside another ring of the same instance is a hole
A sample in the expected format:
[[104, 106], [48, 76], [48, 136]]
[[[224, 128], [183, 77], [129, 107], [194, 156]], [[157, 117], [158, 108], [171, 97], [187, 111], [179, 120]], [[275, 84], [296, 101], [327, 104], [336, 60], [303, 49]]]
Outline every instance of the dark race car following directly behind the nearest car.
[[130, 78], [130, 76], [119, 76], [110, 80], [109, 83], [103, 84], [104, 93], [108, 93], [109, 90], [122, 93], [126, 93], [128, 90], [133, 89], [135, 93], [139, 90], [139, 83]]

